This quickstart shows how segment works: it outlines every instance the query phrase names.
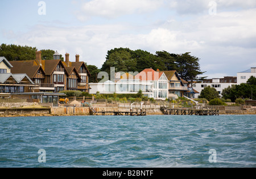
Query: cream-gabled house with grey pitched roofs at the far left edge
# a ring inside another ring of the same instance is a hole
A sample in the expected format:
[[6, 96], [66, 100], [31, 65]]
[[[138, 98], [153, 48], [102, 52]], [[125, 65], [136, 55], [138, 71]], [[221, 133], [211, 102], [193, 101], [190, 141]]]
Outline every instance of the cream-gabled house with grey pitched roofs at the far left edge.
[[27, 74], [10, 73], [13, 65], [5, 57], [0, 57], [0, 68], [0, 94], [25, 93], [34, 90], [36, 85]]

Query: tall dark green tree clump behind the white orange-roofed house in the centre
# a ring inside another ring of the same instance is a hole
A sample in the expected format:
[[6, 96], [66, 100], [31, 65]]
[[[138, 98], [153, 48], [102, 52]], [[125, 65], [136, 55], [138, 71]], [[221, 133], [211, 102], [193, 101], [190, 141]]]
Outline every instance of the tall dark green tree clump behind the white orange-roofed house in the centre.
[[192, 56], [191, 52], [175, 54], [167, 51], [157, 51], [152, 54], [141, 49], [114, 48], [108, 51], [106, 61], [101, 70], [110, 74], [110, 67], [115, 67], [116, 72], [141, 72], [146, 68], [154, 70], [176, 70], [179, 76], [192, 84], [202, 81], [206, 77], [199, 77], [201, 72], [200, 59]]

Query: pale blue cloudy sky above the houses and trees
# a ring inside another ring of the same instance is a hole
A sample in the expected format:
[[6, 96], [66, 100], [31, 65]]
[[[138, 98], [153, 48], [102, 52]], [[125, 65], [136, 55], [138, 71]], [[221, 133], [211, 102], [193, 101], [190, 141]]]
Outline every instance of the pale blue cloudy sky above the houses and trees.
[[119, 47], [191, 52], [208, 78], [256, 67], [255, 0], [10, 0], [0, 9], [0, 44], [79, 54], [98, 68]]

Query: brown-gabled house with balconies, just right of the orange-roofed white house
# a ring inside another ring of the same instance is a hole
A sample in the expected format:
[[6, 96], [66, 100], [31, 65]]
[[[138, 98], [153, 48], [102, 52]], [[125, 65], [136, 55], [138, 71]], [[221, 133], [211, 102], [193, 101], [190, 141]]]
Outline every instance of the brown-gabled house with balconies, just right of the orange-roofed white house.
[[176, 70], [162, 71], [168, 79], [168, 98], [183, 97], [188, 90], [188, 82], [180, 78]]

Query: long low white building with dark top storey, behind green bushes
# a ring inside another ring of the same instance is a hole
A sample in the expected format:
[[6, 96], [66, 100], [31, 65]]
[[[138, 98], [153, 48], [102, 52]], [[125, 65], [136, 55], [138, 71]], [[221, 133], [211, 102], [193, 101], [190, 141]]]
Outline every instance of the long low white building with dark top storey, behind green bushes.
[[[193, 88], [201, 93], [205, 87], [210, 86], [215, 88], [218, 91], [218, 94], [221, 96], [223, 89], [228, 88], [229, 86], [232, 87], [233, 85], [237, 85], [237, 77], [206, 79], [202, 83], [193, 84]], [[198, 96], [199, 94], [195, 95], [196, 98], [198, 98]]]

